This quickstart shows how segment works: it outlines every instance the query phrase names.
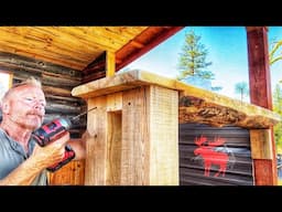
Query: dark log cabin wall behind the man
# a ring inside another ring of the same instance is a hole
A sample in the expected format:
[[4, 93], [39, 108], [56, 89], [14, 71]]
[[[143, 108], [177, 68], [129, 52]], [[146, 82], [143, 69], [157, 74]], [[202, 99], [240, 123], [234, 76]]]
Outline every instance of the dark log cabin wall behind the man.
[[[70, 94], [73, 87], [82, 82], [82, 72], [55, 65], [35, 59], [0, 53], [0, 71], [13, 75], [13, 84], [24, 81], [29, 76], [40, 80], [46, 97], [46, 115], [44, 124], [54, 118], [74, 117], [86, 110], [86, 103]], [[0, 120], [2, 115], [0, 114]], [[86, 129], [86, 116], [80, 117], [74, 129], [72, 139], [80, 139]], [[83, 184], [84, 160], [72, 161], [58, 171], [50, 174], [51, 184]]]

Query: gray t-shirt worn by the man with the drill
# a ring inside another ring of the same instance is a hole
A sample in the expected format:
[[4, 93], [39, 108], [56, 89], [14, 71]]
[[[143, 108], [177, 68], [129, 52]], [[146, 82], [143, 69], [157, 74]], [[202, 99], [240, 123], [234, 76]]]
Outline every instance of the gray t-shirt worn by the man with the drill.
[[[35, 141], [29, 141], [29, 152], [26, 153], [19, 142], [0, 128], [0, 179], [6, 178], [12, 170], [26, 160], [33, 151]], [[46, 170], [42, 171], [32, 182], [32, 186], [46, 186]]]

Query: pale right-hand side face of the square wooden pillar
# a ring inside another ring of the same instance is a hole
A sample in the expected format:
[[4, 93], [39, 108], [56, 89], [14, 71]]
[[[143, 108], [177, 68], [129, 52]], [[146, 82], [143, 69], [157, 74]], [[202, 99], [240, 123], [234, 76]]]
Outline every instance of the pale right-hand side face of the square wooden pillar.
[[150, 186], [178, 186], [178, 92], [150, 86]]

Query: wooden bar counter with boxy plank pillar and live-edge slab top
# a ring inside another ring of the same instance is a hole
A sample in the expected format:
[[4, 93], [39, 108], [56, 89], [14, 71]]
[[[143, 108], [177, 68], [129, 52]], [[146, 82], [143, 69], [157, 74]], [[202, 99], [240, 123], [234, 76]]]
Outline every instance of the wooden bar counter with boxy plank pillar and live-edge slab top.
[[281, 120], [262, 107], [145, 71], [83, 84], [72, 95], [96, 107], [87, 114], [87, 186], [177, 186], [178, 124], [185, 123], [253, 129], [253, 157], [273, 157], [265, 134]]

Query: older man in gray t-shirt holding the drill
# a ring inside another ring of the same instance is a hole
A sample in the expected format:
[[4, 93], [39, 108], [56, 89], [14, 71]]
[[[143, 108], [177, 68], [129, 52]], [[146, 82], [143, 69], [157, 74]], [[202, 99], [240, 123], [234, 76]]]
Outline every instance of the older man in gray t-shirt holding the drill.
[[[32, 132], [43, 123], [45, 106], [41, 83], [33, 77], [15, 84], [4, 94], [0, 124], [0, 184], [46, 186], [45, 168], [63, 159], [69, 132], [45, 147], [40, 147], [32, 138]], [[68, 145], [75, 150], [76, 159], [84, 158], [83, 144]]]

